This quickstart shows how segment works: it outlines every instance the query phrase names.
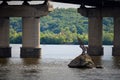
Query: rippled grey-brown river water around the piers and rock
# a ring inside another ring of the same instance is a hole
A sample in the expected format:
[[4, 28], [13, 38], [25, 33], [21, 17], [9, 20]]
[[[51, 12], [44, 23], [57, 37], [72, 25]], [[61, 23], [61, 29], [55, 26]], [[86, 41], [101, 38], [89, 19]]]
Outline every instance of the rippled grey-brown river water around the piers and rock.
[[0, 59], [0, 80], [120, 80], [120, 58], [111, 56], [112, 46], [93, 58], [103, 69], [68, 68], [81, 53], [78, 45], [41, 45], [41, 59], [19, 58], [21, 45], [11, 46], [12, 58]]

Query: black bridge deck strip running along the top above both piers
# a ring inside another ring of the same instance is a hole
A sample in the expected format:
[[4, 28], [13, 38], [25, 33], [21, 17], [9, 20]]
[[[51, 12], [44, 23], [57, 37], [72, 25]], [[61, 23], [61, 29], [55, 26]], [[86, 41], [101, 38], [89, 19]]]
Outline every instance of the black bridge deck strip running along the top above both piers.
[[78, 5], [87, 5], [94, 7], [117, 7], [120, 6], [120, 0], [0, 0], [0, 1], [54, 1], [62, 3], [71, 3]]

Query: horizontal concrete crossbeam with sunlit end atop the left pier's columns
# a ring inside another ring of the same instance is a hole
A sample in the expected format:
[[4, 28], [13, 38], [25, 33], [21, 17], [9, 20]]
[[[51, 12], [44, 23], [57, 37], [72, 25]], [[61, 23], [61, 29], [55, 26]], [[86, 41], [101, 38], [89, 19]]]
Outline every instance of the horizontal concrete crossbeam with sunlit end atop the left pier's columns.
[[6, 5], [0, 6], [0, 17], [41, 17], [51, 10], [49, 5]]

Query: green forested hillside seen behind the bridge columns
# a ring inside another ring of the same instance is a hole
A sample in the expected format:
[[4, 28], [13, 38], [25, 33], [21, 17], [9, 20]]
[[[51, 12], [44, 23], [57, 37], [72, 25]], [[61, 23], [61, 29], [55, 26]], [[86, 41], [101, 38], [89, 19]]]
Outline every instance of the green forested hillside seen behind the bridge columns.
[[[76, 9], [55, 9], [40, 18], [41, 44], [77, 44], [77, 36], [88, 43], [88, 19]], [[103, 19], [103, 44], [112, 44], [113, 19]], [[10, 42], [22, 42], [21, 18], [10, 18]]]

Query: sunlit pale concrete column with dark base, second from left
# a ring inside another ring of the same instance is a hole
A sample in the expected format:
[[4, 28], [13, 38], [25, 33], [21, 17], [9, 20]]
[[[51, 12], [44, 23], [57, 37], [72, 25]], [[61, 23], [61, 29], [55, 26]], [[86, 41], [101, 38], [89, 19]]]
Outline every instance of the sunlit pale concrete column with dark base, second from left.
[[40, 19], [23, 17], [23, 35], [20, 57], [40, 57]]

